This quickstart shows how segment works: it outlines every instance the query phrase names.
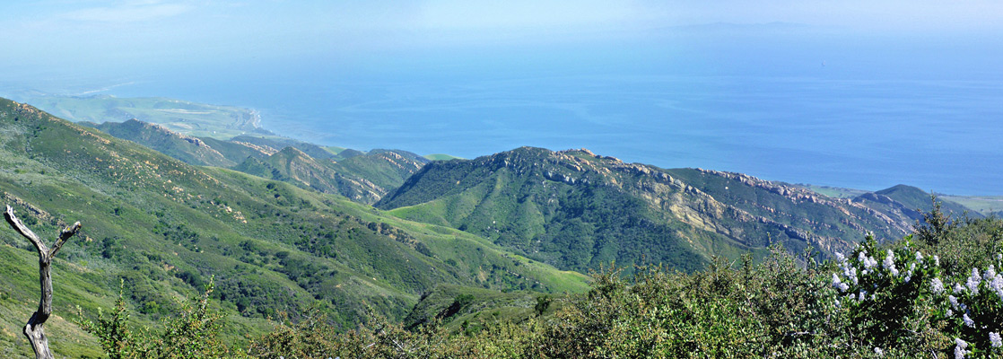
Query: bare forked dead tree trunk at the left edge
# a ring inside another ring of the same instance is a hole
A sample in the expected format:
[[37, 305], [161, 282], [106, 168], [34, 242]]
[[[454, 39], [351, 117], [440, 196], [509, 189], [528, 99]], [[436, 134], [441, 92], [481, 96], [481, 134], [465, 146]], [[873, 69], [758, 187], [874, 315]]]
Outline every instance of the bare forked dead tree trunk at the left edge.
[[35, 245], [35, 249], [38, 250], [38, 280], [42, 285], [42, 298], [38, 301], [38, 310], [31, 315], [31, 319], [28, 319], [28, 325], [24, 326], [24, 335], [31, 342], [31, 349], [35, 351], [35, 359], [53, 359], [52, 351], [49, 350], [49, 340], [45, 337], [44, 331], [45, 321], [52, 315], [52, 277], [49, 276], [49, 266], [52, 264], [56, 252], [59, 252], [66, 240], [80, 230], [80, 223], [77, 222], [62, 230], [59, 233], [59, 239], [52, 245], [52, 249], [49, 249], [34, 232], [21, 223], [21, 220], [14, 217], [14, 209], [10, 206], [7, 206], [7, 212], [3, 214], [3, 217], [10, 224], [10, 227], [14, 228], [14, 231], [31, 241], [31, 244]]

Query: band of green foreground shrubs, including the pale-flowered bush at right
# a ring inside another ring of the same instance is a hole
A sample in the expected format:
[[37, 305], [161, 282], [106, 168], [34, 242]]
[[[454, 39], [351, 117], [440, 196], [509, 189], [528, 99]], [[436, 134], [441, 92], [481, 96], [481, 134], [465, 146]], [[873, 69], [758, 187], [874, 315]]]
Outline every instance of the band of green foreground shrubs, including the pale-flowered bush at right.
[[554, 315], [475, 332], [436, 321], [406, 330], [376, 318], [338, 333], [314, 314], [230, 350], [259, 358], [1003, 356], [1003, 221], [928, 223], [915, 237], [870, 239], [834, 261], [774, 246], [755, 265], [746, 257], [693, 274], [605, 271], [589, 293], [560, 299]]

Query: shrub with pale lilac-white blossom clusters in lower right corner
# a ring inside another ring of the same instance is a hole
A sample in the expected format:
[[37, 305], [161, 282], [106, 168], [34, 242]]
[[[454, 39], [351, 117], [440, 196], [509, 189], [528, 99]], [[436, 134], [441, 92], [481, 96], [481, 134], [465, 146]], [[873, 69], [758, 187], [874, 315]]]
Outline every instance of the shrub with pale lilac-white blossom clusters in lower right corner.
[[[916, 354], [940, 350], [955, 358], [1003, 355], [1003, 276], [996, 273], [1003, 256], [967, 277], [943, 271], [940, 258], [916, 250], [911, 237], [885, 250], [869, 237], [850, 256], [835, 257], [834, 304], [847, 309], [848, 329], [865, 342], [857, 344], [876, 353], [912, 346]], [[953, 346], [943, 344], [945, 337]]]

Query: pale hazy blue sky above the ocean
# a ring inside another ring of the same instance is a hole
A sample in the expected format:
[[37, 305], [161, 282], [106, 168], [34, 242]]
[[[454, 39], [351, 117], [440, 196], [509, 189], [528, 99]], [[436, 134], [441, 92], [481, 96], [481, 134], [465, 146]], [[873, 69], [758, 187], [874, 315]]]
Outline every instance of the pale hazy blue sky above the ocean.
[[644, 39], [715, 23], [1003, 33], [1003, 2], [992, 0], [45, 0], [5, 1], [0, 14], [0, 68], [8, 76], [299, 58], [351, 68], [381, 54]]

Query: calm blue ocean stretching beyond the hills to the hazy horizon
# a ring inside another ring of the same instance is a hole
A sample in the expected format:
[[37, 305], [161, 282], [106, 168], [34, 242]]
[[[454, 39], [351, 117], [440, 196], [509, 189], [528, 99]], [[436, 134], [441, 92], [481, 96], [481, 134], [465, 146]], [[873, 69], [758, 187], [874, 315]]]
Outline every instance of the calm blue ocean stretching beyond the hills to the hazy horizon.
[[253, 107], [274, 132], [363, 150], [585, 147], [788, 183], [1003, 195], [1003, 52], [897, 41], [727, 36], [262, 60], [137, 74], [104, 93]]

